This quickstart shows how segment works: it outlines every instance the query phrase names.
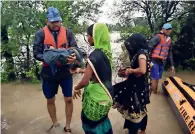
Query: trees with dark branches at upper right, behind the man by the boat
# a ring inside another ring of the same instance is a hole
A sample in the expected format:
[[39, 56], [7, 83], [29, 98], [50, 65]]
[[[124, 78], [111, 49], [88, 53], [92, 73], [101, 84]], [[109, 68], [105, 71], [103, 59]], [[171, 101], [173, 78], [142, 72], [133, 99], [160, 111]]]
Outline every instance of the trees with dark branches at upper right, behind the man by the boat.
[[[117, 1], [118, 2], [118, 1]], [[115, 3], [118, 8], [114, 16], [119, 18], [124, 30], [123, 37], [141, 32], [147, 37], [159, 32], [162, 24], [173, 25], [172, 45], [176, 66], [195, 69], [195, 2], [194, 1], [130, 1]], [[135, 12], [143, 13], [147, 24], [141, 27], [140, 21], [132, 17]], [[136, 23], [134, 26], [133, 23]], [[146, 29], [150, 29], [148, 32]], [[126, 37], [125, 37], [126, 38]], [[188, 53], [186, 53], [188, 52]]]

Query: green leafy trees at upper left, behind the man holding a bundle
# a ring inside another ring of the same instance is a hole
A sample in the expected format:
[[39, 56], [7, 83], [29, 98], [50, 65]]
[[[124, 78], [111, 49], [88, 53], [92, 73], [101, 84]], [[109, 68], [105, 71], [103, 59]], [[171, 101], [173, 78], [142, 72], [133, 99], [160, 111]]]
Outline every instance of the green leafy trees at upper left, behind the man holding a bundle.
[[82, 33], [86, 30], [87, 20], [96, 21], [102, 4], [103, 1], [3, 1], [1, 52], [6, 60], [6, 71], [25, 77], [34, 67], [34, 34], [45, 25], [45, 11], [49, 6], [59, 9], [65, 26], [74, 33]]

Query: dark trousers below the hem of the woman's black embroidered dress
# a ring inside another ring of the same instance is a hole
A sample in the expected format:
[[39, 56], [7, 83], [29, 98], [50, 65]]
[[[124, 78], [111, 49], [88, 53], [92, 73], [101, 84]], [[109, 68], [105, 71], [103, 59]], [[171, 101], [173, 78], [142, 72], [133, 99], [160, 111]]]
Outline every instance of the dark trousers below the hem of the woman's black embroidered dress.
[[146, 130], [148, 122], [148, 115], [146, 115], [140, 123], [134, 123], [129, 120], [125, 120], [124, 129], [127, 128], [129, 130], [129, 134], [137, 134], [138, 130], [142, 131]]

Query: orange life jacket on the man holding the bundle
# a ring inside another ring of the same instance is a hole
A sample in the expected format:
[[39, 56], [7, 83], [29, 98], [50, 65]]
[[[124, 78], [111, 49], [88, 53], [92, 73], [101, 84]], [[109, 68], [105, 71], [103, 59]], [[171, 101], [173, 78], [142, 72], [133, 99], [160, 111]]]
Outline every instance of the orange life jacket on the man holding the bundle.
[[[44, 32], [44, 43], [43, 43], [44, 45], [50, 45], [57, 49], [58, 48], [68, 48], [68, 40], [66, 36], [65, 27], [63, 26], [60, 27], [58, 37], [57, 37], [57, 44], [48, 26], [45, 26], [43, 28], [43, 32]], [[43, 66], [48, 66], [48, 65], [45, 62], [43, 62]]]

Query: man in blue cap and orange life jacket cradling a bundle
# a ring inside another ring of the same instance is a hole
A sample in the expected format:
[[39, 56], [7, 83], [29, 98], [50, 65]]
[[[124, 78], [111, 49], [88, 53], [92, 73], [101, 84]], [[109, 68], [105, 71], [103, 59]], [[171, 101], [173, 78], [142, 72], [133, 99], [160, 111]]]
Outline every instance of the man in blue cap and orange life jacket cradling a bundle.
[[[51, 117], [53, 125], [52, 128], [57, 128], [59, 125], [56, 117], [55, 95], [58, 92], [58, 86], [62, 88], [64, 101], [66, 104], [66, 126], [64, 131], [71, 133], [70, 123], [73, 112], [72, 101], [72, 74], [68, 69], [68, 65], [57, 65], [57, 73], [53, 75], [51, 68], [43, 60], [44, 49], [48, 48], [69, 48], [77, 47], [74, 35], [70, 29], [62, 26], [62, 18], [57, 8], [49, 7], [46, 13], [46, 26], [37, 31], [34, 39], [33, 54], [34, 58], [42, 61], [41, 79], [43, 93], [47, 99], [47, 109]], [[75, 56], [68, 57], [68, 63], [72, 64], [75, 61]]]

